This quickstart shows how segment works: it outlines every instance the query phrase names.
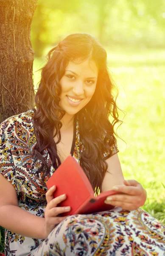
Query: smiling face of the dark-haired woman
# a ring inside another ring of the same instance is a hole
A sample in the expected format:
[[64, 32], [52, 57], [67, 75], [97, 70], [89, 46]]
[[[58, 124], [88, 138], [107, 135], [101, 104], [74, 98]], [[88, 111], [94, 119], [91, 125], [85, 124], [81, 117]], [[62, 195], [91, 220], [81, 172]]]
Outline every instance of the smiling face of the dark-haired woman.
[[69, 115], [78, 113], [92, 98], [98, 78], [98, 68], [94, 61], [80, 64], [69, 62], [60, 80], [62, 92], [59, 106]]

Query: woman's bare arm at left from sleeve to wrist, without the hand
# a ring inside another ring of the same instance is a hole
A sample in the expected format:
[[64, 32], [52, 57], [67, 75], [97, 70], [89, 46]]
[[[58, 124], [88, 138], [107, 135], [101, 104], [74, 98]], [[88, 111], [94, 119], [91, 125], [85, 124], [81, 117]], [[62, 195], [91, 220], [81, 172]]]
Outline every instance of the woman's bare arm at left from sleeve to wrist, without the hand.
[[1, 174], [0, 226], [21, 236], [45, 239], [45, 219], [18, 207], [16, 190]]

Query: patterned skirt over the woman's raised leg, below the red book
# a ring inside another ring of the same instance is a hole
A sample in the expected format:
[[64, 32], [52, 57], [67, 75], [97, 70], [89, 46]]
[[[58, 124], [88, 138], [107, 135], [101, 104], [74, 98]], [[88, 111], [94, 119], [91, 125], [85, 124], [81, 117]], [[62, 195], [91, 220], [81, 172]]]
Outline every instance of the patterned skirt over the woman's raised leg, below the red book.
[[31, 256], [163, 256], [165, 227], [142, 209], [72, 215]]

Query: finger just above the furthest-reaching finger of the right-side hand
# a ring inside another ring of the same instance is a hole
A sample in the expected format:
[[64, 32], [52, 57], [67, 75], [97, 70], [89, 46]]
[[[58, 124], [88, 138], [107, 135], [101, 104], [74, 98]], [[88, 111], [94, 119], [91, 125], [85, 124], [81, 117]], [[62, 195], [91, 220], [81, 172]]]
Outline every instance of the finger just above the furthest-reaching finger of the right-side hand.
[[140, 195], [141, 194], [141, 189], [139, 186], [125, 186], [125, 185], [120, 185], [120, 186], [114, 186], [112, 190], [115, 190], [117, 192], [121, 192], [124, 194], [128, 195]]

